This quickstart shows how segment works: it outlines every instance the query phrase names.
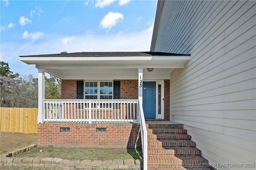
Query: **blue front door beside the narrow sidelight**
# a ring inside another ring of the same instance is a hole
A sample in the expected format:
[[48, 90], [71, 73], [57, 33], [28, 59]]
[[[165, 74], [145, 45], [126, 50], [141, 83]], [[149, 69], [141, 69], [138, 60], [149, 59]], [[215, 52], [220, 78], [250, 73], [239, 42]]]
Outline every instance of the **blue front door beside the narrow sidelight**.
[[143, 81], [143, 112], [145, 118], [156, 118], [156, 82]]

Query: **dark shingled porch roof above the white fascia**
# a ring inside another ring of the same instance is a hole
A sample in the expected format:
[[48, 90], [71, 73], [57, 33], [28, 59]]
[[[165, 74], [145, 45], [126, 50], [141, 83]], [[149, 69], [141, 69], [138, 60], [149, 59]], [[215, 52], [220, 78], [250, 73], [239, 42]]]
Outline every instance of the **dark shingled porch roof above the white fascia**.
[[20, 57], [149, 57], [149, 56], [184, 56], [185, 54], [160, 52], [78, 52], [63, 54], [24, 55]]

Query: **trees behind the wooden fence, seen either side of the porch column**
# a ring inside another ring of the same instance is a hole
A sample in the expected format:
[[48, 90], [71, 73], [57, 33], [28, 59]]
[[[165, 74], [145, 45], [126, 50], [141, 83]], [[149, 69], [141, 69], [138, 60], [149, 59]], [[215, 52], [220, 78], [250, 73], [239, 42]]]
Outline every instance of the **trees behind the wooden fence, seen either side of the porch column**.
[[[45, 98], [60, 99], [61, 81], [51, 76], [45, 78]], [[0, 107], [37, 107], [38, 79], [33, 75], [20, 77], [13, 74], [9, 64], [1, 62]]]

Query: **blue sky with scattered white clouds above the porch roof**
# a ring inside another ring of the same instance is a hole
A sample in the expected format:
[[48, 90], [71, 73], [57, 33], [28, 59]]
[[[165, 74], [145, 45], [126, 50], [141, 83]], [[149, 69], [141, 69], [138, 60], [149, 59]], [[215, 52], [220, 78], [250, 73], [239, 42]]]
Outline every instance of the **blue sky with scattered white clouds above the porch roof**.
[[148, 51], [157, 1], [1, 1], [0, 60], [33, 74], [19, 55]]

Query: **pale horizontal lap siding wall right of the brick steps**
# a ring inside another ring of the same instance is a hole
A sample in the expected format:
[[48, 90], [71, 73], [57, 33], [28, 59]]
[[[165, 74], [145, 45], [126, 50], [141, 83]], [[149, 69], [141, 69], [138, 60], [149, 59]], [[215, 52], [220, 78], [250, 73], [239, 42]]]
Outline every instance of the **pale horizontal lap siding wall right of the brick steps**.
[[164, 2], [154, 50], [191, 54], [171, 72], [170, 120], [211, 164], [256, 159], [255, 11], [254, 1]]

